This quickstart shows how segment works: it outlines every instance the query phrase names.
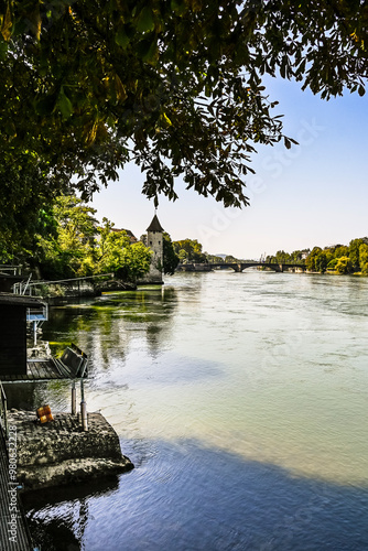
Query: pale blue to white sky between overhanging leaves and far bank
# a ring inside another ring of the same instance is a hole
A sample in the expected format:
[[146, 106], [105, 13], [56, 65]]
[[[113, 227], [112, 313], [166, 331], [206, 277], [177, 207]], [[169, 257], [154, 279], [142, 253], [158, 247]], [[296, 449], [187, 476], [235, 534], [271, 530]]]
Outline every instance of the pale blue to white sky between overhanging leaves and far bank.
[[[173, 240], [188, 237], [210, 253], [259, 258], [368, 235], [368, 93], [325, 101], [297, 83], [273, 78], [268, 94], [280, 101], [273, 112], [284, 115], [285, 134], [300, 145], [259, 148], [251, 163], [257, 174], [246, 180], [251, 206], [242, 210], [226, 209], [178, 182], [180, 198], [163, 197], [158, 210]], [[119, 182], [95, 194], [97, 218], [106, 216], [139, 238], [154, 215], [142, 182], [139, 168], [129, 165]]]

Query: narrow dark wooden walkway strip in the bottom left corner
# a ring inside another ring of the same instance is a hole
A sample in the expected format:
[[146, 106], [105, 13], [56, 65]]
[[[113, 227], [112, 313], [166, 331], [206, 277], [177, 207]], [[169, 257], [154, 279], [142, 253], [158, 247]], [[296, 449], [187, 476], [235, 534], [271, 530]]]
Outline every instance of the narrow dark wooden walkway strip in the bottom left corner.
[[[6, 442], [0, 431], [0, 549], [32, 551], [31, 536], [22, 511], [15, 483], [10, 480]], [[17, 495], [17, 498], [13, 497]], [[14, 510], [13, 510], [14, 509]]]

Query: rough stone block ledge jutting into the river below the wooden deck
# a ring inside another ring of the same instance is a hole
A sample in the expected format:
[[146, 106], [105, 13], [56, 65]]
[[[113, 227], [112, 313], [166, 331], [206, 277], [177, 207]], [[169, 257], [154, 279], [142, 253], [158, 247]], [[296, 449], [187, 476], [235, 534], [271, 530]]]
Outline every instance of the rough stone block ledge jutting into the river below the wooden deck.
[[88, 413], [88, 431], [83, 431], [78, 415], [53, 417], [54, 421], [41, 424], [32, 411], [9, 412], [9, 426], [17, 434], [17, 477], [24, 490], [101, 478], [134, 467], [100, 413]]

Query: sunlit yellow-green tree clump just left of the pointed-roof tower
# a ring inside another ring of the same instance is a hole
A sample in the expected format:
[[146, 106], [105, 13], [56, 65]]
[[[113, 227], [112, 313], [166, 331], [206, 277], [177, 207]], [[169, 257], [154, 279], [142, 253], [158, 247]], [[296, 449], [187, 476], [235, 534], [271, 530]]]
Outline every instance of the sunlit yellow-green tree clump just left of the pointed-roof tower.
[[116, 272], [136, 282], [150, 270], [151, 250], [142, 242], [130, 244], [127, 233], [116, 231], [107, 218], [95, 218], [96, 209], [75, 196], [58, 197], [50, 217], [52, 233], [36, 234], [32, 259], [46, 279], [74, 278]]

